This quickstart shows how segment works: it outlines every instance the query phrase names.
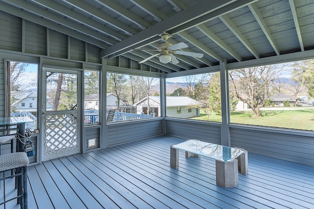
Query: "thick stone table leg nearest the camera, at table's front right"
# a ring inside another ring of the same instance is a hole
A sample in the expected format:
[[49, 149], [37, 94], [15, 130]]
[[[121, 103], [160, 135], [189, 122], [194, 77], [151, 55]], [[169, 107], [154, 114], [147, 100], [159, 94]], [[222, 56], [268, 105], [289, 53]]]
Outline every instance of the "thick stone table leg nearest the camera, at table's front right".
[[216, 160], [216, 184], [224, 187], [238, 185], [237, 159], [233, 161]]

